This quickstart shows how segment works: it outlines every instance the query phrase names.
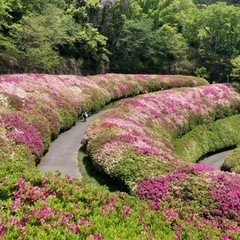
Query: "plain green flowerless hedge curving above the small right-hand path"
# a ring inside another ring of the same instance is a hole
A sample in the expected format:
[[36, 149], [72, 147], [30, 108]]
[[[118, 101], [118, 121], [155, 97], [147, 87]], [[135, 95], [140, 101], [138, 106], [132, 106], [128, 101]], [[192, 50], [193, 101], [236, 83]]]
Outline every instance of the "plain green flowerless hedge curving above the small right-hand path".
[[240, 142], [240, 115], [200, 125], [174, 142], [174, 155], [185, 162], [197, 162], [207, 153], [234, 147]]

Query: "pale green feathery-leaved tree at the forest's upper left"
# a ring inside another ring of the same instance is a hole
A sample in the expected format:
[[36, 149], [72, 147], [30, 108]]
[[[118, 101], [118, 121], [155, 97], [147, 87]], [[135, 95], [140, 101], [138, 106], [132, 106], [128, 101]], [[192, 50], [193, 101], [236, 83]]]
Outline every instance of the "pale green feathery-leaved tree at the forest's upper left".
[[50, 71], [58, 66], [61, 57], [57, 45], [68, 39], [71, 16], [52, 4], [45, 5], [41, 14], [31, 12], [11, 26], [11, 36], [18, 46], [17, 59], [25, 69]]

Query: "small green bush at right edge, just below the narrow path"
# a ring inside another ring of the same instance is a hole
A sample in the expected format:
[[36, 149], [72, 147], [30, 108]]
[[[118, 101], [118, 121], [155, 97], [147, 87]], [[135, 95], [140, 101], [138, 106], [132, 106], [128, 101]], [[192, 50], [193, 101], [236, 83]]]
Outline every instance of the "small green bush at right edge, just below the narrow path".
[[222, 170], [240, 174], [240, 146], [227, 155], [223, 162]]

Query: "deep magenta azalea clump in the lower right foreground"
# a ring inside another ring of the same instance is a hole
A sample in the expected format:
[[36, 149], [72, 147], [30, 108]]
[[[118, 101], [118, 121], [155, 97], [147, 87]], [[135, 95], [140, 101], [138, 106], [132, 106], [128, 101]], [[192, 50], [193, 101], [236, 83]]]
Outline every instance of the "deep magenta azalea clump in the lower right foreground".
[[[169, 207], [171, 218], [195, 226], [221, 229], [222, 238], [240, 237], [240, 189], [237, 175], [214, 171], [202, 164], [185, 165], [157, 178], [144, 178], [137, 184], [136, 195], [150, 202], [157, 212]], [[214, 239], [209, 236], [209, 239]]]

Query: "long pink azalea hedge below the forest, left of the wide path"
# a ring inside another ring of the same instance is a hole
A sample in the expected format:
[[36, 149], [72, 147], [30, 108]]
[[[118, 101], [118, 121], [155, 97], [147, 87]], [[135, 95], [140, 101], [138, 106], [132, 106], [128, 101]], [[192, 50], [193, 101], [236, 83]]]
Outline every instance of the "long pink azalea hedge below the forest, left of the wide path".
[[204, 79], [163, 75], [0, 76], [1, 153], [16, 155], [11, 140], [23, 145], [36, 161], [60, 131], [70, 128], [83, 111], [95, 112], [107, 103], [143, 91], [207, 84]]

